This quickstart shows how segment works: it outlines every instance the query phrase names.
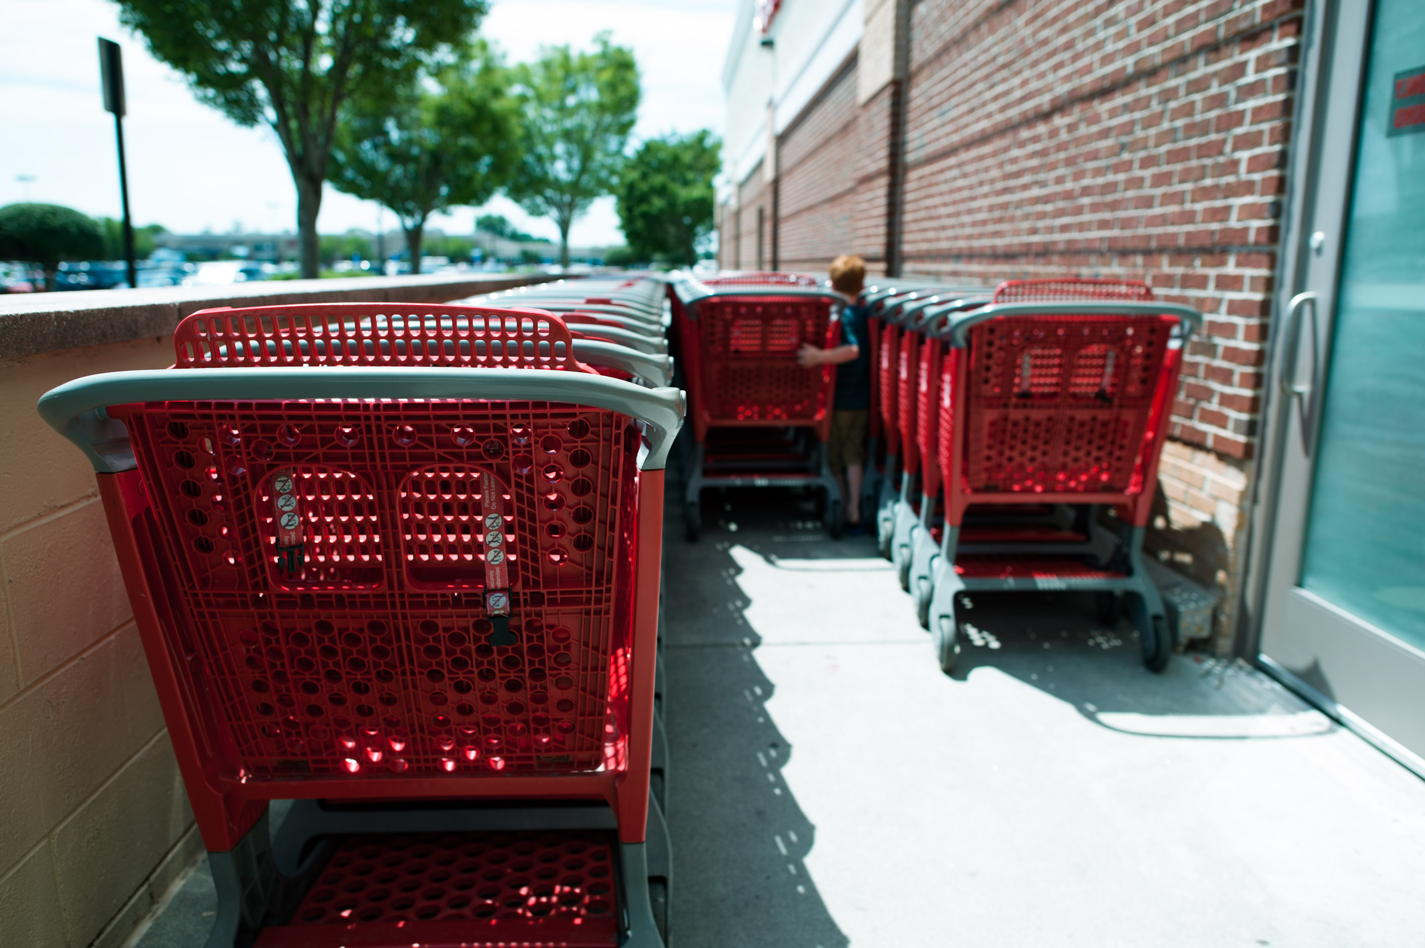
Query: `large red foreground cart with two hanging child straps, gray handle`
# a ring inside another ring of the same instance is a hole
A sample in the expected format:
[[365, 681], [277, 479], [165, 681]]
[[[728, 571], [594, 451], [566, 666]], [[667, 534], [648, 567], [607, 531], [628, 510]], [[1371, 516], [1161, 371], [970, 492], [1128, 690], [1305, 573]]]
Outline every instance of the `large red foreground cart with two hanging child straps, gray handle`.
[[664, 944], [681, 396], [594, 373], [547, 312], [436, 309], [204, 311], [171, 369], [40, 401], [97, 472], [209, 947]]

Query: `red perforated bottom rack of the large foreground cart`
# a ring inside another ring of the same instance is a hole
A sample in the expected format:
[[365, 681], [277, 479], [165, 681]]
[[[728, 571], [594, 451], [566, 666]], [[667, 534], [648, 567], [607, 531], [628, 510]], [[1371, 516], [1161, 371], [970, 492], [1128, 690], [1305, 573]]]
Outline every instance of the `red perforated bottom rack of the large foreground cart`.
[[291, 922], [258, 945], [328, 927], [353, 941], [409, 927], [399, 944], [426, 944], [422, 925], [439, 922], [463, 922], [466, 944], [614, 945], [616, 845], [601, 831], [348, 837]]

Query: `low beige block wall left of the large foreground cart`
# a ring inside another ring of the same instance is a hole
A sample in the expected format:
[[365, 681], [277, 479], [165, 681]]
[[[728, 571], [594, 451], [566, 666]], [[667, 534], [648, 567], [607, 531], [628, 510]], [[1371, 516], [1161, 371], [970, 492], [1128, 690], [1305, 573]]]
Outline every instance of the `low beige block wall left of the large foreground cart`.
[[168, 338], [0, 361], [0, 944], [118, 945], [202, 850], [94, 473], [34, 411]]

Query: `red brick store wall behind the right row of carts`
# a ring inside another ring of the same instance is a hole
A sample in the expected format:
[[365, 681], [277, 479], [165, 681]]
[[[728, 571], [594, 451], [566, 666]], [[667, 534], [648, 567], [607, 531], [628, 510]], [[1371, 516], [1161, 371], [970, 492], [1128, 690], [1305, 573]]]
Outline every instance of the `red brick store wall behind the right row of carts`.
[[[1149, 546], [1223, 589], [1220, 651], [1240, 603], [1302, 6], [912, 0], [909, 11], [901, 272], [1149, 279], [1207, 314]], [[852, 58], [778, 143], [782, 268], [822, 269], [855, 249], [881, 272], [892, 87], [858, 105], [856, 70]], [[741, 187], [744, 267], [754, 191], [760, 171]]]

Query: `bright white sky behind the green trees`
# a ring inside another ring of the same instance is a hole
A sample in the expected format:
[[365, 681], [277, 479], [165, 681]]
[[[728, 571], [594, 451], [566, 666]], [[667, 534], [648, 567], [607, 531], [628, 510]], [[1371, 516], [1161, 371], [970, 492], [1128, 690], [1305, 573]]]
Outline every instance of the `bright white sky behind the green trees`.
[[[493, 0], [482, 31], [510, 61], [540, 44], [589, 46], [600, 30], [630, 46], [643, 73], [636, 137], [722, 127], [722, 56], [737, 0]], [[103, 36], [124, 47], [128, 192], [135, 224], [171, 231], [281, 232], [296, 227], [296, 195], [276, 137], [241, 128], [200, 104], [182, 78], [118, 24], [110, 0], [4, 0], [0, 7], [0, 205], [44, 201], [91, 215], [120, 215], [113, 115], [103, 110]], [[21, 178], [33, 178], [24, 181]], [[532, 234], [557, 237], [496, 198], [480, 212], [504, 214]], [[462, 208], [433, 225], [469, 232]], [[375, 230], [378, 208], [328, 187], [318, 227]], [[390, 212], [385, 227], [393, 228]], [[613, 198], [574, 224], [573, 244], [621, 244]]]

